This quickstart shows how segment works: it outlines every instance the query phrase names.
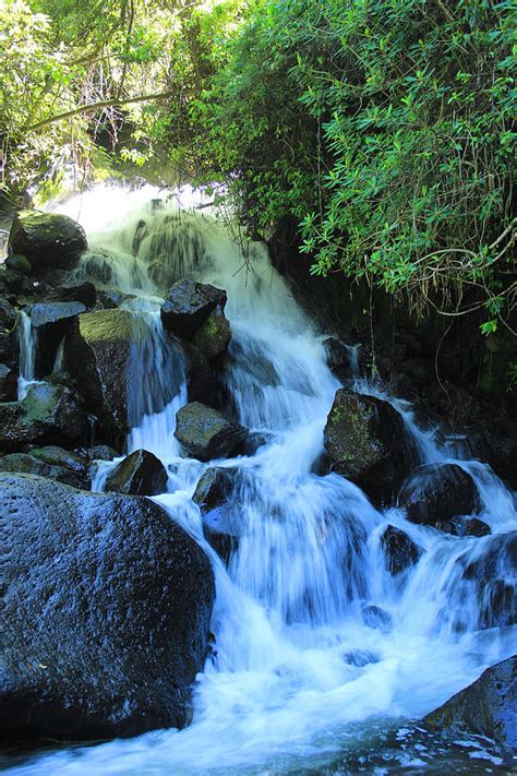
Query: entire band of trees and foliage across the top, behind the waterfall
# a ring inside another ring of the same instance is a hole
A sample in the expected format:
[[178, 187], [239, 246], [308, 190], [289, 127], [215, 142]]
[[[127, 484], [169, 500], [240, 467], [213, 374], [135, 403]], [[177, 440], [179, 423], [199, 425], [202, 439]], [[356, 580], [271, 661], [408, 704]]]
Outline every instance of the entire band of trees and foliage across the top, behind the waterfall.
[[510, 0], [0, 0], [3, 207], [207, 186], [330, 313], [454, 327], [515, 396], [515, 28]]

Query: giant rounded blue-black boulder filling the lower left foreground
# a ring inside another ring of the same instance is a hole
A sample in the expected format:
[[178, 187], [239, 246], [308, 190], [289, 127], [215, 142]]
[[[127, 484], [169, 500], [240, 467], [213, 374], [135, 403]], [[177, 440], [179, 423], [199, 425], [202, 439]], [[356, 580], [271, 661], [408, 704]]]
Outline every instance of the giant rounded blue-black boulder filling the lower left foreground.
[[190, 720], [209, 561], [157, 504], [0, 475], [0, 736], [135, 736]]

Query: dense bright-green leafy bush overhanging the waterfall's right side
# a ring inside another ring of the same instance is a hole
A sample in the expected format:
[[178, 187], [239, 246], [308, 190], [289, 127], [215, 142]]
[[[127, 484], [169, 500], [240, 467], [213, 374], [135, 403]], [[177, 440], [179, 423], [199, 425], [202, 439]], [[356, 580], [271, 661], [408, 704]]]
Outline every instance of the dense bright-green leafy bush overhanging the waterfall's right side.
[[[510, 0], [263, 0], [191, 110], [250, 226], [494, 331], [515, 296]], [[509, 279], [508, 279], [509, 278]], [[512, 283], [512, 280], [514, 280]]]

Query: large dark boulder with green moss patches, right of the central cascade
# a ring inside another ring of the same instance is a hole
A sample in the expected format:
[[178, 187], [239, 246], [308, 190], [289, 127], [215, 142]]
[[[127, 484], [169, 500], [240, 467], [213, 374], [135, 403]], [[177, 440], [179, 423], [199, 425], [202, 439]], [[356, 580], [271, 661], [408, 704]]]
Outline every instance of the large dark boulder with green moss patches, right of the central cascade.
[[375, 502], [398, 492], [410, 452], [402, 418], [375, 396], [337, 391], [324, 430], [324, 445], [335, 471], [359, 485]]

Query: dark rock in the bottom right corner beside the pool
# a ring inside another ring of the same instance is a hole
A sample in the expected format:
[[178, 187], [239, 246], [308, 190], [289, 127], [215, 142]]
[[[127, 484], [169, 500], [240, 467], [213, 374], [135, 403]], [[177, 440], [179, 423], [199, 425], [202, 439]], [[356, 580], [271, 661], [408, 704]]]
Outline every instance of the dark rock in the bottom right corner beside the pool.
[[474, 732], [517, 755], [517, 655], [488, 668], [424, 721], [453, 733]]

